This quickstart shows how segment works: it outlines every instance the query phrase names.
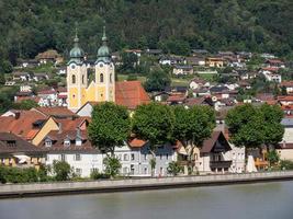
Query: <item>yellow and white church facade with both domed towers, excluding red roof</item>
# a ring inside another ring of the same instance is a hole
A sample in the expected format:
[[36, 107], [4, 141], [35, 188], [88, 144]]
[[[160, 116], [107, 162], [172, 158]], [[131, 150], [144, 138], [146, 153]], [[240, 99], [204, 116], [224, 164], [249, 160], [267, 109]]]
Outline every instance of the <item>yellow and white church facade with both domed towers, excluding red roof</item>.
[[89, 83], [84, 53], [79, 47], [77, 35], [75, 37], [75, 46], [67, 64], [68, 108], [72, 112], [77, 112], [87, 102], [115, 101], [115, 68], [106, 42], [104, 28], [102, 46], [98, 49], [94, 62], [94, 79]]

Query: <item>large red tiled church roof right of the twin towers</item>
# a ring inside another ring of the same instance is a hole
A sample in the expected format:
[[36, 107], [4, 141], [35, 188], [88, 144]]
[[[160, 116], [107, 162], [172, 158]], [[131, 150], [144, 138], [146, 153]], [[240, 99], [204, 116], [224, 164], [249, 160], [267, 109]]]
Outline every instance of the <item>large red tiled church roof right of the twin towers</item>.
[[139, 81], [120, 81], [115, 84], [115, 102], [129, 110], [147, 104], [150, 99]]

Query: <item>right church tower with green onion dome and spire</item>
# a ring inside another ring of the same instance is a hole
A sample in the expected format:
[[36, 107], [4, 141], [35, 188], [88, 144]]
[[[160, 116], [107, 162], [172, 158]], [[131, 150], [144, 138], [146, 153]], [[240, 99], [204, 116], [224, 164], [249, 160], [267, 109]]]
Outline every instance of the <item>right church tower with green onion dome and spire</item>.
[[98, 49], [95, 61], [95, 101], [115, 102], [115, 69], [111, 59], [105, 26], [103, 27], [102, 46]]

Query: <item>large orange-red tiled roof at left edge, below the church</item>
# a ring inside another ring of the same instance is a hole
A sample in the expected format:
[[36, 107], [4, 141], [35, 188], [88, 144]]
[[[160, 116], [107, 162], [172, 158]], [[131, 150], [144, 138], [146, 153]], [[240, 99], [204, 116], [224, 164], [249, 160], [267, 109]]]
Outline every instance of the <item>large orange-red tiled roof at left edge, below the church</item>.
[[0, 132], [12, 132], [32, 141], [47, 118], [37, 111], [9, 111], [0, 116]]

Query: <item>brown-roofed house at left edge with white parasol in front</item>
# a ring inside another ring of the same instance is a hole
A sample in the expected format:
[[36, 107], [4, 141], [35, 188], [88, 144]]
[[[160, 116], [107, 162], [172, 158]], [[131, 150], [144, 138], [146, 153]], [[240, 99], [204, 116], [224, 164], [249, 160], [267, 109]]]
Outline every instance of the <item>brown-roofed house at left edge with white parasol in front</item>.
[[45, 163], [45, 151], [11, 132], [0, 132], [0, 165], [35, 168]]

